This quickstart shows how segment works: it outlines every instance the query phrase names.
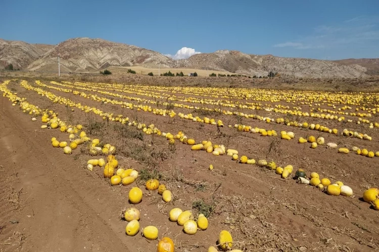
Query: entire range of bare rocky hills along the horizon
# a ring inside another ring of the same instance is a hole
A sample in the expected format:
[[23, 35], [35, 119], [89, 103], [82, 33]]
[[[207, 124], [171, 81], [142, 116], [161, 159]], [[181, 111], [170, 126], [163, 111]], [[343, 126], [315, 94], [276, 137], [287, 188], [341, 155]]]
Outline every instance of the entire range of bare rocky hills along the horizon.
[[207, 69], [215, 73], [228, 71], [250, 76], [267, 76], [272, 71], [296, 77], [359, 78], [379, 71], [379, 59], [327, 61], [219, 50], [174, 60], [156, 51], [103, 39], [74, 38], [55, 46], [0, 39], [0, 64], [12, 63], [15, 69], [58, 71], [58, 55], [62, 72], [97, 72], [110, 66], [160, 66]]

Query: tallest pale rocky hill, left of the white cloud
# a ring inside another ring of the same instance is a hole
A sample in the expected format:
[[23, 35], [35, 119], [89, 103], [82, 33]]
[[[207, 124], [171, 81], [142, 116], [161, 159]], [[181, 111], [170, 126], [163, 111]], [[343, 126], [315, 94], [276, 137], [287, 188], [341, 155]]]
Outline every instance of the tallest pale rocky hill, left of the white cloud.
[[74, 38], [51, 48], [28, 66], [29, 70], [57, 69], [57, 57], [70, 71], [98, 71], [109, 66], [170, 67], [174, 60], [159, 52], [103, 39]]

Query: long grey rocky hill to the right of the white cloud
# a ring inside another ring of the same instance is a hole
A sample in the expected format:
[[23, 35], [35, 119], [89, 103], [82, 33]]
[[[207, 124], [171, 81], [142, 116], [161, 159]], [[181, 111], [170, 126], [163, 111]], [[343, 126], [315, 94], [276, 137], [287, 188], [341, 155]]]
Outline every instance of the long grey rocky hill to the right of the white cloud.
[[283, 58], [272, 55], [254, 55], [239, 51], [220, 50], [195, 54], [178, 60], [180, 67], [226, 70], [251, 76], [267, 76], [277, 72], [295, 77], [356, 78], [367, 77], [366, 68], [359, 65], [341, 65], [337, 62], [309, 58]]

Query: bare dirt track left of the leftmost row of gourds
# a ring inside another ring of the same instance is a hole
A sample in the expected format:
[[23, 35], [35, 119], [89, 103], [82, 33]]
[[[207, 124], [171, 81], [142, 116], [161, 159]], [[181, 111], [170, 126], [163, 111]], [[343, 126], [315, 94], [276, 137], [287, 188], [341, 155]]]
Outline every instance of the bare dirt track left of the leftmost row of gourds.
[[[18, 212], [2, 214], [2, 223], [10, 218], [19, 223], [5, 228], [8, 230], [0, 233], [1, 239], [6, 240], [13, 231], [19, 231], [26, 237], [22, 248], [30, 251], [125, 251], [125, 244], [117, 238], [121, 235], [117, 231], [119, 226], [108, 224], [109, 216], [101, 212], [106, 209], [105, 200], [94, 201], [96, 192], [105, 186], [95, 185], [96, 181], [83, 182], [87, 179], [83, 179], [85, 170], [67, 157], [52, 155], [55, 150], [44, 148], [41, 134], [32, 129], [33, 122], [18, 116], [18, 111], [10, 111], [15, 109], [3, 97], [0, 106], [3, 108], [0, 165], [7, 171], [15, 167], [17, 180], [13, 179], [10, 186], [15, 190], [22, 188], [23, 194]], [[100, 188], [91, 193], [90, 187]], [[2, 188], [2, 201], [7, 200], [5, 193]], [[4, 251], [14, 251], [14, 246], [3, 243]]]

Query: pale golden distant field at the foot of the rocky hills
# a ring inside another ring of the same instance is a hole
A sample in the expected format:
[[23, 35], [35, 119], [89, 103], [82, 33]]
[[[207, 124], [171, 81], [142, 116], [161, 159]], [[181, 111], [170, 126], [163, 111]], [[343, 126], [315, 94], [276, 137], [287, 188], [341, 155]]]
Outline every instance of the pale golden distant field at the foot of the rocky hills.
[[[140, 67], [140, 66], [108, 68], [108, 70], [111, 71], [112, 74], [124, 74], [128, 71], [128, 69], [134, 70], [137, 74], [141, 74], [141, 75], [147, 75], [148, 73], [153, 72], [155, 76], [159, 75], [159, 71], [161, 74], [166, 73], [168, 71], [171, 71], [171, 73], [174, 73], [174, 74], [183, 72], [185, 76], [188, 76], [189, 73], [196, 72], [198, 76], [204, 76], [204, 77], [209, 76], [212, 73], [215, 73], [216, 75], [220, 73], [220, 71], [215, 71], [215, 70], [201, 70], [201, 69], [189, 69], [189, 68], [161, 68], [160, 70], [158, 68], [145, 68], [145, 67]], [[225, 72], [225, 71], [222, 71], [221, 73], [226, 74], [226, 75], [234, 74], [234, 73]]]

